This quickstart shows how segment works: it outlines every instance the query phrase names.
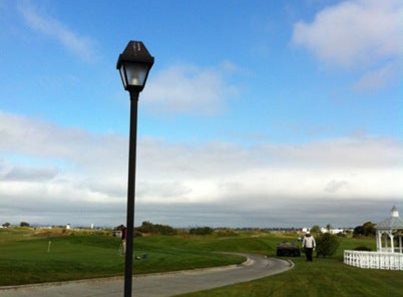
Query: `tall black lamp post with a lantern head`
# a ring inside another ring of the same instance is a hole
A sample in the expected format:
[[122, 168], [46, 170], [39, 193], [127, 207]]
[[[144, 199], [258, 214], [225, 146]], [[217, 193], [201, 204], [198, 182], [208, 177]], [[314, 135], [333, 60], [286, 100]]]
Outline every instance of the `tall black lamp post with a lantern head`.
[[129, 137], [129, 177], [127, 182], [127, 237], [124, 262], [124, 297], [132, 296], [133, 278], [133, 234], [134, 198], [136, 194], [136, 139], [137, 106], [139, 93], [146, 85], [148, 72], [154, 57], [148, 53], [143, 42], [131, 41], [117, 59], [116, 68], [120, 72], [123, 87], [130, 94], [130, 137]]

